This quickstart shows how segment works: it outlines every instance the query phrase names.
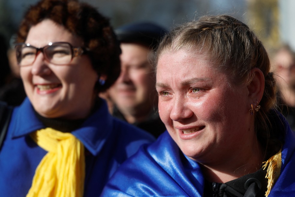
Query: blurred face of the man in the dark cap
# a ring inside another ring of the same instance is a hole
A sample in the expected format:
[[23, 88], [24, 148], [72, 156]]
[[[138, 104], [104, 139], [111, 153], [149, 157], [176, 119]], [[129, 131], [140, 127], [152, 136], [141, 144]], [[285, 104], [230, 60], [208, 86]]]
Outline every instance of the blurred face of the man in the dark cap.
[[155, 77], [151, 65], [151, 50], [140, 44], [121, 44], [121, 74], [109, 89], [118, 109], [136, 114], [145, 113], [153, 106]]

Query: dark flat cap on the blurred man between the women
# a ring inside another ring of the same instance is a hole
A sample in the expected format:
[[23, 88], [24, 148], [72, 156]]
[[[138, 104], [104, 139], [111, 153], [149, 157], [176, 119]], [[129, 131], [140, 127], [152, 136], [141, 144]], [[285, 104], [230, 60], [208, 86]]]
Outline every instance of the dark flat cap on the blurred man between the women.
[[132, 23], [115, 29], [117, 38], [122, 43], [139, 43], [156, 49], [161, 38], [168, 31], [154, 23]]

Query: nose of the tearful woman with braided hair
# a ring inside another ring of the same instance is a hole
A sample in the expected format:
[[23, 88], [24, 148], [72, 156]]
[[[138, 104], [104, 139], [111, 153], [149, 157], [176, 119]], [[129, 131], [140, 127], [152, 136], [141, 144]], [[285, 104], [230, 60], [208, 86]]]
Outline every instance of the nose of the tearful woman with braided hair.
[[192, 117], [193, 114], [194, 113], [189, 108], [189, 103], [186, 101], [185, 98], [176, 96], [173, 98], [170, 112], [171, 120], [179, 122], [186, 118]]

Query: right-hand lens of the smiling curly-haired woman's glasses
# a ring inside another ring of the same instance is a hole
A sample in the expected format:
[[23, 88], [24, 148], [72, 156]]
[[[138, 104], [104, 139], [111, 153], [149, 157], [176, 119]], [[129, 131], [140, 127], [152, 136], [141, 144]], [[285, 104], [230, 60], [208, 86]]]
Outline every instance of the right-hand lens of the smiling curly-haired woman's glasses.
[[43, 49], [49, 62], [56, 65], [68, 64], [72, 60], [72, 48], [67, 43], [56, 43]]

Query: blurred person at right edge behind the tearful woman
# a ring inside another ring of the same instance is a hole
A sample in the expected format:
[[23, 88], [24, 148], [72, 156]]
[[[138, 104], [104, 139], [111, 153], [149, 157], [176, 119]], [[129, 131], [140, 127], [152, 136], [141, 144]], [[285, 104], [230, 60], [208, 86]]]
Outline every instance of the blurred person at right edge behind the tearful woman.
[[289, 45], [280, 47], [272, 60], [274, 78], [279, 86], [282, 113], [295, 130], [295, 52]]

